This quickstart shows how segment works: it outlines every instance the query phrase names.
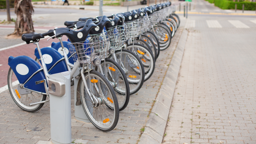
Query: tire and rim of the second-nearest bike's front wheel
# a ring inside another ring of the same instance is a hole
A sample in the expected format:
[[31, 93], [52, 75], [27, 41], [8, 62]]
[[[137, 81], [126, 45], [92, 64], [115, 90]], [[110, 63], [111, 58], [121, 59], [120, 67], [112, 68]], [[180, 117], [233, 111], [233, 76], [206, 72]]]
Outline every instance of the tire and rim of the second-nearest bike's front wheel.
[[[116, 75], [119, 74], [119, 73], [116, 73], [116, 72], [120, 72], [121, 73], [121, 76], [122, 76], [121, 79], [123, 80], [123, 83], [125, 85], [125, 87], [124, 87], [125, 88], [125, 90], [124, 90], [125, 92], [123, 93], [123, 92], [120, 92], [120, 90], [118, 91], [118, 89], [116, 89], [116, 87], [114, 88], [114, 91], [116, 93], [118, 93], [118, 94], [116, 94], [116, 97], [118, 99], [119, 111], [122, 111], [122, 110], [124, 110], [127, 107], [128, 103], [129, 103], [129, 99], [130, 99], [130, 88], [129, 88], [127, 77], [126, 77], [123, 69], [121, 68], [121, 66], [118, 63], [116, 63], [114, 60], [106, 58], [105, 61], [106, 61], [106, 64], [110, 63], [113, 66], [113, 68], [115, 70], [114, 72], [115, 72]], [[104, 61], [101, 61], [101, 65], [104, 65]], [[111, 66], [111, 68], [112, 68], [112, 66]], [[95, 71], [97, 71], [97, 70], [98, 70], [98, 67], [95, 67]], [[103, 69], [103, 71], [104, 71], [104, 69]], [[113, 71], [113, 70], [111, 70], [111, 71]], [[113, 74], [111, 74], [111, 75], [113, 76]], [[108, 78], [109, 77], [110, 77], [110, 74], [108, 75]], [[115, 78], [112, 77], [112, 79], [116, 79], [116, 77]], [[113, 82], [113, 81], [111, 81], [111, 82]], [[119, 84], [120, 84], [120, 81], [118, 82], [117, 85], [119, 85]], [[121, 98], [120, 97], [122, 97], [123, 95], [125, 96], [125, 98], [124, 98], [124, 101], [121, 102]]]

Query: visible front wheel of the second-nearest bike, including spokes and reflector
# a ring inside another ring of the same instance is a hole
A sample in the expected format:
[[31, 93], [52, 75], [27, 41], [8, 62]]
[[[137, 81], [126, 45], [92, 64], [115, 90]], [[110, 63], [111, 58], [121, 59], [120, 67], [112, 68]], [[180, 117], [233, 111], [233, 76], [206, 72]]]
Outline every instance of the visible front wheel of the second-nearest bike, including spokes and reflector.
[[[119, 111], [124, 110], [129, 103], [130, 99], [130, 88], [126, 75], [122, 67], [116, 63], [114, 60], [106, 58], [106, 67], [104, 61], [101, 61], [101, 67], [103, 73], [105, 73], [105, 68], [108, 73], [108, 80], [112, 87], [114, 88], [115, 95], [118, 99]], [[100, 72], [98, 67], [95, 67], [96, 71]]]

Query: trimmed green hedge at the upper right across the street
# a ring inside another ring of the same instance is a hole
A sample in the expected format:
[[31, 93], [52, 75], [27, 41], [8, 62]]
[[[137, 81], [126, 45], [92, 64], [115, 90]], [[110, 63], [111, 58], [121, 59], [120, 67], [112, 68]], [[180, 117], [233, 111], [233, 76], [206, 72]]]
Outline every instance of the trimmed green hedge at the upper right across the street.
[[214, 3], [215, 6], [218, 6], [221, 9], [235, 9], [235, 5], [237, 4], [237, 9], [242, 9], [244, 4], [244, 10], [255, 11], [256, 2], [233, 2], [227, 0], [206, 0], [209, 3]]

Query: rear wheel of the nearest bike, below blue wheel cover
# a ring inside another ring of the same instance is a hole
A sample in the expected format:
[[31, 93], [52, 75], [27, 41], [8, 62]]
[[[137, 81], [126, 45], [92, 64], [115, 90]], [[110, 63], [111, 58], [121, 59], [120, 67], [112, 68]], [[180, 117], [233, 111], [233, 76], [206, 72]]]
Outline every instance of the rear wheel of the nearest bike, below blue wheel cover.
[[42, 103], [34, 106], [29, 106], [29, 104], [31, 103], [44, 101], [46, 99], [46, 95], [38, 94], [33, 91], [31, 93], [24, 95], [20, 94], [18, 92], [18, 87], [20, 84], [12, 68], [10, 68], [8, 71], [7, 84], [10, 95], [14, 100], [15, 104], [24, 111], [35, 112], [38, 111], [44, 105], [44, 103]]

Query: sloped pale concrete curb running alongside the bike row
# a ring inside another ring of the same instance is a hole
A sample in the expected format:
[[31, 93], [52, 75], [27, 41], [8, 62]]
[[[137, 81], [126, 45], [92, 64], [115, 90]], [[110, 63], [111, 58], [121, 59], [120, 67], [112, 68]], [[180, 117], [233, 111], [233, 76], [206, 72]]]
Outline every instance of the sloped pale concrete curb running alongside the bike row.
[[167, 69], [165, 78], [163, 80], [163, 85], [161, 86], [161, 89], [158, 93], [156, 102], [153, 106], [145, 130], [141, 135], [138, 144], [162, 143], [175, 85], [179, 74], [179, 68], [187, 40], [187, 35], [188, 31], [184, 29], [175, 49], [170, 66]]

